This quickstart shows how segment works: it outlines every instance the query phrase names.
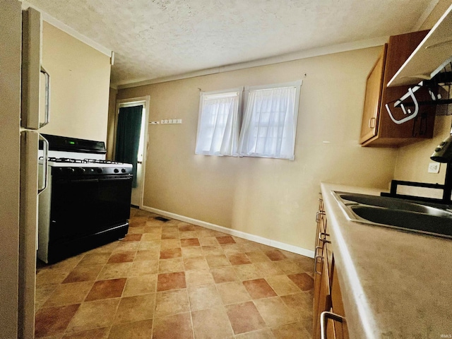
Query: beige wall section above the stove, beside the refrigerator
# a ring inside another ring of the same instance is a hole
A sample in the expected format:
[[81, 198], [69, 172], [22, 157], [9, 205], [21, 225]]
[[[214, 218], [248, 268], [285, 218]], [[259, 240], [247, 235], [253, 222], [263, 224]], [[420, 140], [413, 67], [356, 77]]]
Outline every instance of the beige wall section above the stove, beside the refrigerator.
[[42, 133], [107, 141], [109, 57], [44, 22], [42, 66], [51, 76], [51, 118]]

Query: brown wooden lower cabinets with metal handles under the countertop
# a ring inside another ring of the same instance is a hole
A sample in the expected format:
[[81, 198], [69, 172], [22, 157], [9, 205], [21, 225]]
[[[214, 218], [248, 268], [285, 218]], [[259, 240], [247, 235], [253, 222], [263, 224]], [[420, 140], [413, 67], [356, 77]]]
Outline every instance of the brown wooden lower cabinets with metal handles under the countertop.
[[328, 234], [326, 213], [321, 199], [319, 199], [316, 222], [314, 339], [348, 339], [338, 272], [334, 266], [331, 238]]

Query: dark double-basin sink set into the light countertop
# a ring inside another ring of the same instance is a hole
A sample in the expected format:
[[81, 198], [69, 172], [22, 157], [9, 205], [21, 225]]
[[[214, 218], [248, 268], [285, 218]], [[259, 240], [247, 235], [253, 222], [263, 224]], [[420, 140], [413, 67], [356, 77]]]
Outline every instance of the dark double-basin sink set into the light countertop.
[[452, 238], [452, 206], [332, 191], [348, 220]]

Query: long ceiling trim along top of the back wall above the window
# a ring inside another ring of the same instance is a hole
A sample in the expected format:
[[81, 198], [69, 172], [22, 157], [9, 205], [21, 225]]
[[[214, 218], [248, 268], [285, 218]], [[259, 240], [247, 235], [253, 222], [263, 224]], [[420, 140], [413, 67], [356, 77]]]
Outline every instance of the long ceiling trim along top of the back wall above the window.
[[[437, 1], [437, 0], [435, 0]], [[347, 42], [345, 44], [335, 44], [332, 46], [319, 47], [314, 49], [307, 49], [305, 51], [293, 52], [283, 54], [277, 57], [270, 57], [266, 59], [258, 59], [254, 61], [242, 62], [239, 64], [232, 64], [226, 66], [215, 67], [213, 69], [203, 69], [201, 71], [194, 71], [190, 73], [179, 74], [177, 76], [167, 76], [164, 78], [155, 79], [136, 79], [134, 81], [126, 81], [114, 83], [112, 88], [123, 89], [133, 88], [144, 85], [151, 85], [153, 83], [165, 83], [167, 81], [182, 80], [186, 78], [194, 78], [196, 76], [207, 76], [209, 74], [223, 73], [229, 71], [237, 71], [239, 69], [249, 69], [251, 67], [266, 66], [270, 64], [279, 64], [286, 61], [294, 61], [299, 59], [307, 59], [311, 57], [320, 57], [321, 55], [335, 54], [340, 52], [352, 51], [355, 49], [364, 49], [369, 47], [383, 46], [388, 41], [388, 37], [377, 37], [374, 39], [360, 40], [357, 42]]]

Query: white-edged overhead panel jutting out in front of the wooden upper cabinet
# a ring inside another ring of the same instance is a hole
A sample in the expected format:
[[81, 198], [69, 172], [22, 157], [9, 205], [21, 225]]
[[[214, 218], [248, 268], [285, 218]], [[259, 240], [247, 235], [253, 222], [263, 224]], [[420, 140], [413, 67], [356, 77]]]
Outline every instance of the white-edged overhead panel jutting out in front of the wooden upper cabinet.
[[388, 82], [388, 87], [432, 79], [452, 61], [452, 5]]

